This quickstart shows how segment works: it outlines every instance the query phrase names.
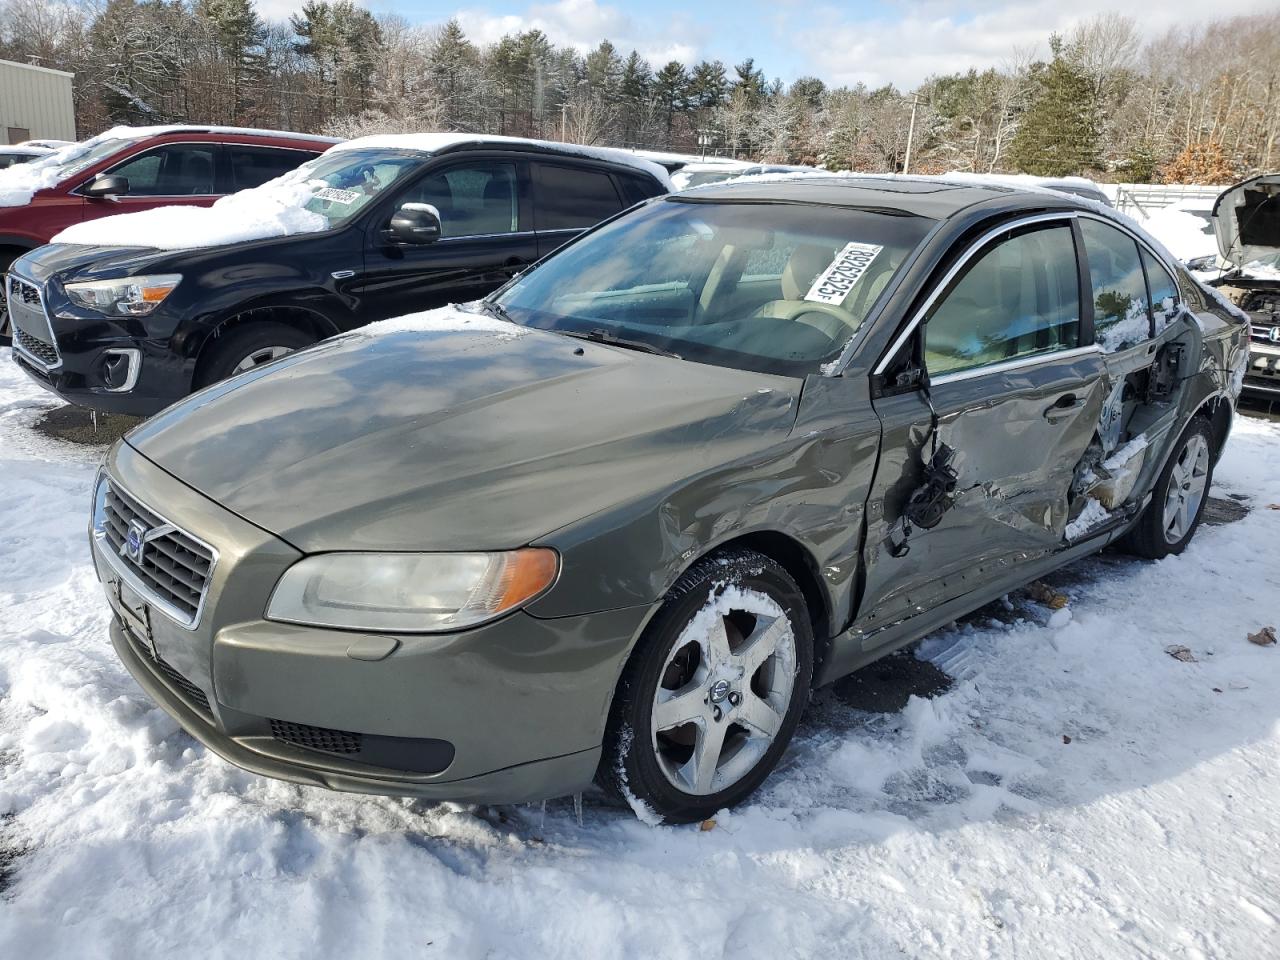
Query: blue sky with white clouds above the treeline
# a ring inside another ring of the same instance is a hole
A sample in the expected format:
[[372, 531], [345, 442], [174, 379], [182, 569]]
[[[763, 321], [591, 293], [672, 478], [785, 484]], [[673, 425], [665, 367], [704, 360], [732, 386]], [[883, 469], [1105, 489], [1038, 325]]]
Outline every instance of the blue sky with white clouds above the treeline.
[[[457, 17], [476, 41], [538, 28], [554, 42], [590, 50], [609, 38], [639, 50], [655, 68], [667, 60], [727, 65], [754, 56], [771, 79], [817, 76], [832, 86], [896, 83], [910, 88], [933, 73], [998, 67], [1016, 50], [1047, 54], [1051, 32], [1069, 32], [1098, 13], [1133, 17], [1146, 37], [1194, 28], [1233, 14], [1266, 13], [1274, 0], [365, 0], [415, 23]], [[259, 0], [282, 17], [301, 0]]]

